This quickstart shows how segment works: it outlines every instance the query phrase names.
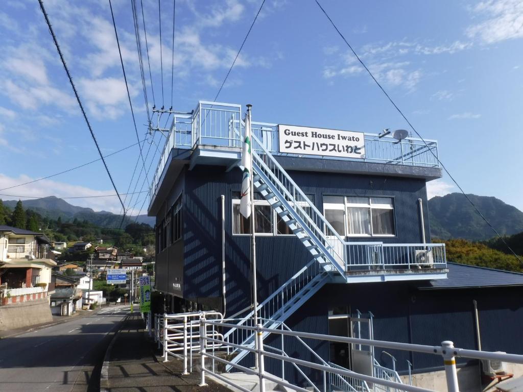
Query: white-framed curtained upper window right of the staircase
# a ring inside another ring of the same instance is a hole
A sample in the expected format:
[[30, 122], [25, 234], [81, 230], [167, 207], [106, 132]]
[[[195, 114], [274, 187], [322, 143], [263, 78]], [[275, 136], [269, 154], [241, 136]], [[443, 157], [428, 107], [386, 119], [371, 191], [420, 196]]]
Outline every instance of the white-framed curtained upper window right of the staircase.
[[392, 198], [325, 196], [323, 208], [327, 221], [342, 236], [395, 234]]

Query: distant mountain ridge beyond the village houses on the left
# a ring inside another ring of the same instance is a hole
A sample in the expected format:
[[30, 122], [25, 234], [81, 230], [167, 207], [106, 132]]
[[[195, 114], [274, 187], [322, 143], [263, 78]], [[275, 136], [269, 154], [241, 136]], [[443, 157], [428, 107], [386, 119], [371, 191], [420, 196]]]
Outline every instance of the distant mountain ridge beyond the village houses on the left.
[[[4, 205], [10, 209], [14, 209], [18, 200], [5, 200]], [[56, 198], [54, 196], [41, 199], [23, 200], [22, 205], [24, 209], [31, 209], [38, 212], [42, 216], [46, 216], [52, 219], [62, 218], [62, 221], [73, 221], [75, 218], [79, 221], [86, 220], [87, 222], [93, 223], [100, 227], [119, 227], [122, 220], [122, 216], [113, 214], [108, 211], [94, 211], [93, 209], [86, 207], [79, 207], [67, 203], [63, 199]], [[134, 222], [135, 216], [126, 217], [123, 226]], [[147, 215], [138, 215], [138, 223], [146, 223], [151, 227], [154, 227], [154, 217]]]

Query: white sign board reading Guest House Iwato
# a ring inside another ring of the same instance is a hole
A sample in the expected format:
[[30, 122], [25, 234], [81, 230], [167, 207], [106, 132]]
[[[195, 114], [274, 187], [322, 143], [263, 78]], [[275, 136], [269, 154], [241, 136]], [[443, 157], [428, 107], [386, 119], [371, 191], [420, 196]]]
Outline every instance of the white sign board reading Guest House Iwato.
[[278, 125], [280, 153], [365, 158], [362, 132]]

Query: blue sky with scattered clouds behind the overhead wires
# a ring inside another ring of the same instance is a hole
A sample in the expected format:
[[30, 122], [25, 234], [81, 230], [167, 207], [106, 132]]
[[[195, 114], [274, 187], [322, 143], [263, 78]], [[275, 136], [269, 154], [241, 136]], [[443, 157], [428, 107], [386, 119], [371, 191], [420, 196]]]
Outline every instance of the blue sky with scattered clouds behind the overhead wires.
[[[517, 142], [523, 124], [523, 2], [320, 3], [418, 132], [438, 140], [441, 161], [464, 191], [523, 210]], [[112, 6], [138, 138], [109, 1], [43, 4], [101, 152], [146, 139], [147, 179], [138, 171], [133, 178], [138, 145], [106, 159], [120, 193], [141, 192], [122, 196], [129, 213], [142, 205], [144, 213], [165, 139], [147, 135], [131, 2], [112, 0]], [[173, 1], [160, 0], [158, 9], [156, 0], [137, 0], [149, 109], [190, 111], [198, 100], [213, 100], [260, 4], [177, 0], [173, 61]], [[0, 37], [0, 189], [99, 158], [38, 2], [3, 0]], [[217, 101], [252, 103], [254, 121], [370, 133], [408, 129], [314, 0], [266, 0]], [[447, 175], [427, 189], [429, 197], [457, 191]], [[98, 161], [0, 193], [13, 200], [115, 191]], [[121, 211], [114, 196], [66, 200]]]

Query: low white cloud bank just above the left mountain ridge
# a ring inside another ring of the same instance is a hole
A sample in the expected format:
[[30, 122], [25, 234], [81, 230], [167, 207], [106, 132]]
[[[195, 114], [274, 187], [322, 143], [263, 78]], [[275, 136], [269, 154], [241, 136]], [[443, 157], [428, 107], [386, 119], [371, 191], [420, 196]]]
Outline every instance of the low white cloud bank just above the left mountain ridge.
[[[21, 174], [18, 177], [9, 177], [0, 173], [0, 189], [8, 188], [14, 185], [18, 185], [22, 182], [28, 182], [35, 180], [36, 178], [29, 177], [25, 174]], [[32, 197], [81, 197], [81, 196], [102, 196], [108, 194], [115, 194], [115, 190], [108, 188], [106, 190], [92, 189], [83, 187], [80, 185], [71, 185], [69, 183], [53, 181], [53, 180], [41, 180], [32, 184], [24, 185], [21, 187], [0, 191], [3, 193], [0, 198], [3, 200], [18, 200], [17, 195], [30, 195]], [[6, 196], [12, 195], [12, 196]], [[145, 193], [144, 193], [145, 194]], [[136, 195], [134, 195], [136, 197]], [[140, 195], [140, 199], [143, 195]], [[27, 200], [28, 198], [20, 198], [21, 200]], [[31, 198], [32, 199], [32, 198]], [[118, 201], [117, 196], [110, 197], [96, 197], [86, 199], [66, 199], [68, 203], [73, 205], [79, 205], [82, 207], [89, 207], [95, 211], [110, 211], [113, 213], [119, 213], [121, 204]], [[141, 204], [141, 203], [140, 203]]]

